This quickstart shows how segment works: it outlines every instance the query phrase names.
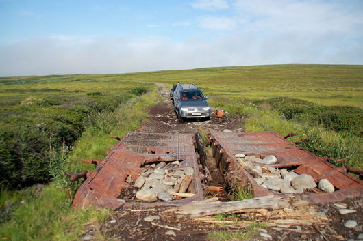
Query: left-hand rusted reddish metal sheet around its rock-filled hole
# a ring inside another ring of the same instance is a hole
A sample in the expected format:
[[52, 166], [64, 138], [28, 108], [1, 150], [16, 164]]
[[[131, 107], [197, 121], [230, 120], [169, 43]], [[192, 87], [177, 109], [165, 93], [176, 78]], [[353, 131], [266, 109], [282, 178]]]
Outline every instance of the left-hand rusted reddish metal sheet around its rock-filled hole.
[[186, 199], [140, 203], [138, 205], [179, 205], [189, 201], [203, 199], [203, 190], [199, 177], [197, 156], [193, 145], [192, 134], [148, 134], [142, 132], [128, 132], [121, 141], [116, 143], [114, 148], [99, 163], [98, 167], [78, 188], [73, 200], [73, 208], [86, 208], [89, 206], [101, 206], [113, 210], [123, 205], [129, 206], [132, 203], [125, 203], [119, 197], [122, 188], [128, 188], [127, 176], [131, 175], [133, 181], [145, 171], [142, 165], [158, 161], [183, 160], [179, 167], [169, 169], [183, 169], [192, 167], [194, 177], [192, 186], [196, 194]]

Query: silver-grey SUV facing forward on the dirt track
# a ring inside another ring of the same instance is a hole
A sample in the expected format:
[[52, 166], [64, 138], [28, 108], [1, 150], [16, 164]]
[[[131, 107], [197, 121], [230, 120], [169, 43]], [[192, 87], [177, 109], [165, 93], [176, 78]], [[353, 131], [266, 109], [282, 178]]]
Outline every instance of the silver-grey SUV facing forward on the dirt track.
[[197, 85], [177, 85], [171, 97], [179, 122], [187, 118], [210, 119], [209, 96], [204, 97]]

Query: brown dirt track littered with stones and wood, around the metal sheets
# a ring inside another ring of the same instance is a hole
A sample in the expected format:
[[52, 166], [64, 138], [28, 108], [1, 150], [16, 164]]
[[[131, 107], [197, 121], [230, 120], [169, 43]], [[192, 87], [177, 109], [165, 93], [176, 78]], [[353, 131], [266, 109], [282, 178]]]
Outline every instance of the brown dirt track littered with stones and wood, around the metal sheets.
[[[168, 87], [160, 83], [158, 87], [163, 101], [149, 109], [151, 118], [142, 124], [139, 132], [203, 134], [207, 130], [244, 131], [243, 119], [236, 116], [221, 119], [213, 116], [205, 122], [178, 122], [169, 100]], [[221, 174], [213, 167], [210, 153], [208, 164], [214, 179], [212, 186], [223, 186]], [[351, 213], [340, 214], [338, 210], [342, 207], [352, 210]], [[121, 209], [114, 213], [112, 220], [105, 221], [99, 230], [108, 236], [108, 240], [357, 240], [359, 235], [363, 238], [362, 208], [362, 199], [354, 199], [277, 211], [251, 210], [233, 216], [221, 216], [219, 219], [199, 220], [160, 215], [160, 211], [165, 208]], [[145, 220], [152, 216], [158, 219], [152, 222]], [[355, 221], [356, 227], [345, 227], [344, 224], [349, 220]], [[84, 236], [92, 237], [94, 234], [95, 228], [90, 228]]]

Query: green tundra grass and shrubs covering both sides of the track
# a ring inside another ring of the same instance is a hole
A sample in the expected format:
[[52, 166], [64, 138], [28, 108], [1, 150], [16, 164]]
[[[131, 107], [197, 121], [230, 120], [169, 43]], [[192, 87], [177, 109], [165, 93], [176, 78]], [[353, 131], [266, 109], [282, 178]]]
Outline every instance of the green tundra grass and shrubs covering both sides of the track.
[[64, 171], [94, 169], [79, 159], [102, 160], [108, 135], [136, 130], [159, 98], [153, 83], [195, 83], [212, 107], [247, 117], [247, 131], [294, 132], [306, 150], [362, 169], [362, 76], [363, 66], [281, 65], [0, 78], [0, 237], [77, 240], [112, 216], [71, 210], [79, 184]]

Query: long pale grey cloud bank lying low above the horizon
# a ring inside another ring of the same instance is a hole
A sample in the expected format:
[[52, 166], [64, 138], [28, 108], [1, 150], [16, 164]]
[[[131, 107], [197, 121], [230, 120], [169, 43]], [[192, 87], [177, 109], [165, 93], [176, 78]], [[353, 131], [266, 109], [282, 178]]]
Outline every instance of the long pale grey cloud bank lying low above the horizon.
[[175, 43], [168, 38], [52, 38], [0, 47], [0, 76], [123, 73], [210, 66], [277, 63], [363, 64], [363, 47], [338, 33], [315, 36], [235, 31], [212, 41], [205, 36]]

